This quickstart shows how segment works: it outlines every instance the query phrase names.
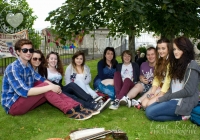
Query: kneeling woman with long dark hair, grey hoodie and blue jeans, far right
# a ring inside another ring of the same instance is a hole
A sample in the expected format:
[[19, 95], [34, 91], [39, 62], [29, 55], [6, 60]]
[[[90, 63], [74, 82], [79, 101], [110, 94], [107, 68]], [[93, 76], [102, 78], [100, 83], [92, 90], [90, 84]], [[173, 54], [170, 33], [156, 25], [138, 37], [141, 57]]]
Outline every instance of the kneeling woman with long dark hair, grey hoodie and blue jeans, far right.
[[192, 109], [198, 104], [200, 67], [194, 61], [194, 46], [186, 37], [178, 37], [173, 41], [170, 53], [169, 75], [171, 88], [156, 97], [146, 109], [146, 116], [155, 121], [187, 120]]

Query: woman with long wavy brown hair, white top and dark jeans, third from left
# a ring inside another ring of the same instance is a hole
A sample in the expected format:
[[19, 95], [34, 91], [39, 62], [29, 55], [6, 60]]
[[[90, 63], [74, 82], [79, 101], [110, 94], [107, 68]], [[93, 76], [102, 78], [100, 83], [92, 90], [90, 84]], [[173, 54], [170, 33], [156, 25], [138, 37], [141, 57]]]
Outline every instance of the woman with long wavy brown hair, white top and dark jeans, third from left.
[[47, 73], [46, 78], [54, 84], [62, 87], [62, 92], [71, 97], [72, 99], [81, 103], [87, 109], [92, 109], [95, 113], [102, 111], [105, 107], [101, 103], [95, 102], [95, 100], [88, 95], [82, 88], [75, 83], [69, 83], [66, 86], [62, 86], [62, 75], [64, 75], [63, 65], [57, 52], [50, 52], [46, 56]]

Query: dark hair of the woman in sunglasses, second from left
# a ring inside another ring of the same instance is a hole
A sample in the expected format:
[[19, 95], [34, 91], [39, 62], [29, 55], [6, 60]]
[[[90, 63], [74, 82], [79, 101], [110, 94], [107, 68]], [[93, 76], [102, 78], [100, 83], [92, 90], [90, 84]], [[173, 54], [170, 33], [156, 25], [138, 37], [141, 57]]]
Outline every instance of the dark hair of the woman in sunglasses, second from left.
[[[34, 50], [33, 54], [37, 53], [40, 54], [41, 56], [41, 64], [38, 66], [38, 73], [42, 76], [42, 77], [46, 77], [46, 67], [45, 67], [45, 57], [44, 54], [40, 51], [40, 50]], [[31, 58], [32, 59], [32, 58]], [[31, 63], [31, 60], [29, 61]], [[32, 65], [32, 63], [31, 63]], [[47, 78], [47, 77], [46, 77]]]

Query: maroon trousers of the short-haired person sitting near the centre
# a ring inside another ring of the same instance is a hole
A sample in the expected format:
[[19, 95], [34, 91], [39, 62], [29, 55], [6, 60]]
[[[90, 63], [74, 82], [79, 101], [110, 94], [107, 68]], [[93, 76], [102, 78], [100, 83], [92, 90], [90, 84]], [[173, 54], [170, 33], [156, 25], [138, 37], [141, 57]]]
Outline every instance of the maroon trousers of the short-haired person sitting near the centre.
[[114, 74], [114, 87], [116, 99], [120, 100], [134, 87], [134, 83], [129, 78], [126, 78], [123, 82], [121, 73], [117, 71]]

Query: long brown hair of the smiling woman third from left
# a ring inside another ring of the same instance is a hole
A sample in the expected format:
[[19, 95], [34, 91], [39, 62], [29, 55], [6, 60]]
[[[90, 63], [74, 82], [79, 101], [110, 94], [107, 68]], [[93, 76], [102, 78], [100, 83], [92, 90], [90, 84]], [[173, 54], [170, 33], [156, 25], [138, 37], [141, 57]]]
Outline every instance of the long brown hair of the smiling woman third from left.
[[60, 60], [60, 57], [59, 57], [57, 52], [50, 52], [49, 54], [47, 54], [47, 56], [46, 56], [46, 65], [45, 66], [48, 67], [47, 60], [49, 59], [51, 54], [54, 54], [54, 55], [57, 56], [58, 62], [57, 62], [56, 70], [63, 76], [64, 75], [63, 64], [62, 64], [62, 61]]

